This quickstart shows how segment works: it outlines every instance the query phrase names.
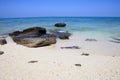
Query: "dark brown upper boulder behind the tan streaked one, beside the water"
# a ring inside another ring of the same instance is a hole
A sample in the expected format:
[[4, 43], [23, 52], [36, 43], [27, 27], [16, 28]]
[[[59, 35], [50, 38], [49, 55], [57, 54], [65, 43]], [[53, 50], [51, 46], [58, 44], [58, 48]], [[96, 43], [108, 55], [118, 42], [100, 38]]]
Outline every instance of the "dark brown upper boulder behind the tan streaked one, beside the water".
[[46, 29], [43, 27], [32, 27], [32, 28], [28, 28], [28, 29], [24, 29], [23, 31], [15, 31], [13, 33], [10, 33], [9, 35], [12, 37], [15, 36], [20, 36], [20, 35], [43, 35], [46, 34]]

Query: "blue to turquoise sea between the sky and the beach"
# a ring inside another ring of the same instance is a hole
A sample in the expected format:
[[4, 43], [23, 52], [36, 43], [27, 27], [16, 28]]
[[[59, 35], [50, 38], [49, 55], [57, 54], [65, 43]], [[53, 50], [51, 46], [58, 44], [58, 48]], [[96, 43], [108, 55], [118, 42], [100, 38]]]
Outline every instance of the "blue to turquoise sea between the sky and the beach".
[[[54, 29], [54, 24], [64, 22], [71, 32], [94, 32], [120, 36], [120, 18], [117, 17], [37, 17], [0, 19], [0, 35], [29, 27], [40, 26]], [[94, 34], [96, 35], [96, 34]]]

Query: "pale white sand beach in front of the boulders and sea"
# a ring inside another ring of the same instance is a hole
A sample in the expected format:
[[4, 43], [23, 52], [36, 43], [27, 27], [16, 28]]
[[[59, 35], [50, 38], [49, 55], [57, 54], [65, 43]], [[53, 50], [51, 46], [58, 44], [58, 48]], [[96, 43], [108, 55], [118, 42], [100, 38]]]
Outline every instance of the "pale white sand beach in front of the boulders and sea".
[[[8, 43], [0, 45], [4, 51], [0, 55], [0, 80], [120, 80], [120, 45], [85, 39], [74, 36], [51, 46], [28, 48], [7, 37]], [[75, 45], [80, 49], [60, 48]]]

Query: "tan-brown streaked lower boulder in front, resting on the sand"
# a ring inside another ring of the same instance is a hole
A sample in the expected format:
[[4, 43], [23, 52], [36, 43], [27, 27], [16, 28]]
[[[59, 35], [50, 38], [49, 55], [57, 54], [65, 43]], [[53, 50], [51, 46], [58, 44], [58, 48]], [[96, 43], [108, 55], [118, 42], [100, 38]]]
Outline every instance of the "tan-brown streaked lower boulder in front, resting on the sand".
[[13, 40], [18, 44], [32, 48], [48, 46], [56, 43], [56, 37], [53, 34], [45, 34], [37, 37], [17, 36], [14, 37]]

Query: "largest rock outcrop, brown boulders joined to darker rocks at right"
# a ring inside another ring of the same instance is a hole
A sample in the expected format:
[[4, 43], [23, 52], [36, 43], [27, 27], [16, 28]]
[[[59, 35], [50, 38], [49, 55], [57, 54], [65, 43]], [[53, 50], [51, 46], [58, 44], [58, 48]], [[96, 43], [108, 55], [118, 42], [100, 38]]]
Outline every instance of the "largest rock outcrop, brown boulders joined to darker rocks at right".
[[71, 35], [67, 31], [53, 31], [47, 33], [42, 27], [32, 27], [23, 31], [15, 31], [9, 34], [17, 44], [27, 47], [43, 47], [56, 43], [56, 38], [69, 39]]

